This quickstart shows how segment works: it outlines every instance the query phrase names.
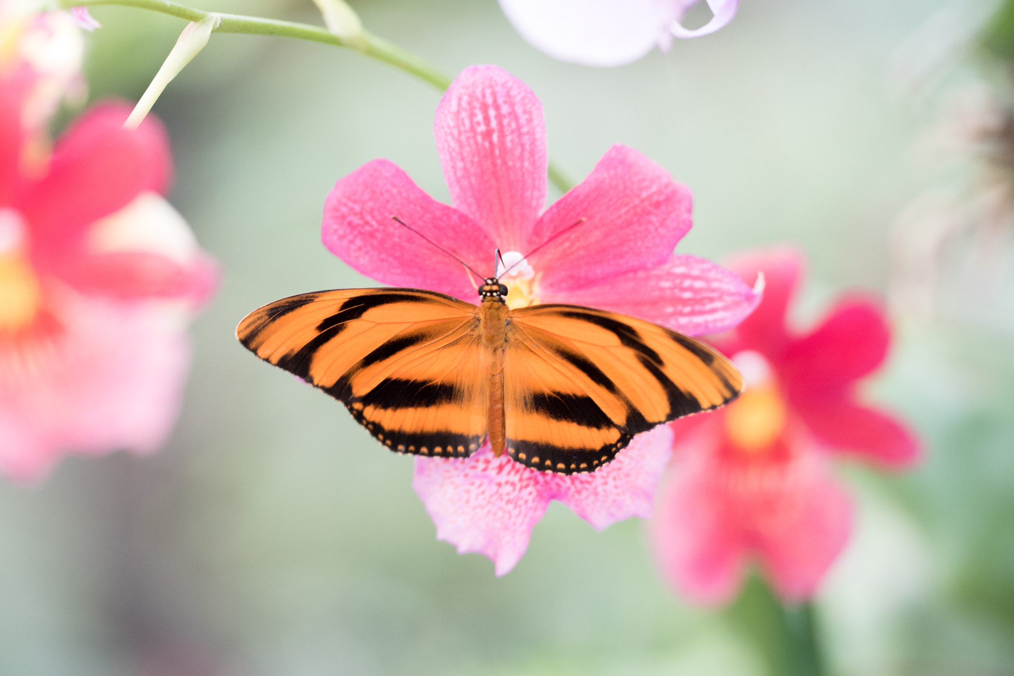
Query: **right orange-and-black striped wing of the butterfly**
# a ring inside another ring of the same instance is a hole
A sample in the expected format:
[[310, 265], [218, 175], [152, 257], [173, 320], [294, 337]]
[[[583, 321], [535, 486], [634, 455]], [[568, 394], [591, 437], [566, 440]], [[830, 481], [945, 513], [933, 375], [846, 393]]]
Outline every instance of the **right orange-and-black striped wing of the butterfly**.
[[634, 435], [717, 408], [742, 389], [718, 352], [634, 317], [535, 305], [508, 323], [507, 452], [538, 469], [593, 471]]

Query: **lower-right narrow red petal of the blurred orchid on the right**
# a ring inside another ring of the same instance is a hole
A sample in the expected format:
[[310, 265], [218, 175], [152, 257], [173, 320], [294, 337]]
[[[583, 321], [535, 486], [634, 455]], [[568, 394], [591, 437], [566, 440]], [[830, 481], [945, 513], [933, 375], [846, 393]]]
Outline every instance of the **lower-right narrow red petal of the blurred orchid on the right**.
[[913, 431], [895, 418], [855, 403], [848, 396], [801, 398], [793, 405], [810, 432], [837, 451], [895, 469], [919, 460], [922, 443]]

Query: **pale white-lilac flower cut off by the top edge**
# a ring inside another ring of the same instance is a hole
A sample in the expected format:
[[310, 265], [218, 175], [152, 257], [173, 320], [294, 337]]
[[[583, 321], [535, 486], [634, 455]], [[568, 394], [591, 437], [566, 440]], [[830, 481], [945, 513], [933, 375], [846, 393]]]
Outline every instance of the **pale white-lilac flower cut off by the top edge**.
[[711, 20], [700, 28], [682, 20], [700, 0], [500, 0], [504, 14], [532, 47], [583, 66], [622, 66], [672, 39], [700, 37], [725, 27], [739, 0], [707, 0]]

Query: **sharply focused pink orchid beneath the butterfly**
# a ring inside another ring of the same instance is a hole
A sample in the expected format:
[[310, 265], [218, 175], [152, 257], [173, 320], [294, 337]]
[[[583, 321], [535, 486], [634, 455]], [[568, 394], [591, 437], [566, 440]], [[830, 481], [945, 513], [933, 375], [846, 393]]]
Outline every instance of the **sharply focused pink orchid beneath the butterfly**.
[[[435, 131], [453, 207], [431, 199], [387, 160], [360, 167], [328, 197], [323, 243], [364, 275], [479, 301], [464, 268], [395, 223], [395, 215], [484, 274], [495, 272], [494, 249], [505, 251], [513, 269], [501, 282], [511, 307], [590, 305], [700, 334], [735, 325], [759, 301], [729, 271], [672, 252], [691, 227], [690, 192], [630, 148], [610, 148], [581, 184], [544, 211], [541, 104], [499, 68], [475, 66], [458, 75], [437, 108]], [[586, 221], [555, 237], [580, 219]], [[462, 459], [417, 457], [414, 485], [438, 537], [486, 554], [503, 575], [523, 554], [551, 500], [599, 529], [647, 516], [669, 449], [663, 428], [635, 439], [594, 473], [563, 475], [494, 458], [487, 444]]]

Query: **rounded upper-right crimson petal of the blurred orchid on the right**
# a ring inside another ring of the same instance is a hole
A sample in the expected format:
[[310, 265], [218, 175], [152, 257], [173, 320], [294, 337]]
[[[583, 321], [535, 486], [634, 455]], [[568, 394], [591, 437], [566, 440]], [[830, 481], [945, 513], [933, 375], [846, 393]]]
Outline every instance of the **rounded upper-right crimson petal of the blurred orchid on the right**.
[[779, 374], [800, 396], [841, 391], [879, 367], [890, 346], [890, 328], [872, 298], [847, 296], [823, 322], [786, 351]]

